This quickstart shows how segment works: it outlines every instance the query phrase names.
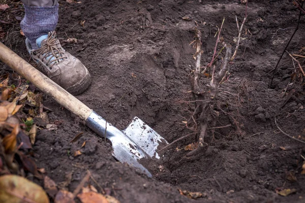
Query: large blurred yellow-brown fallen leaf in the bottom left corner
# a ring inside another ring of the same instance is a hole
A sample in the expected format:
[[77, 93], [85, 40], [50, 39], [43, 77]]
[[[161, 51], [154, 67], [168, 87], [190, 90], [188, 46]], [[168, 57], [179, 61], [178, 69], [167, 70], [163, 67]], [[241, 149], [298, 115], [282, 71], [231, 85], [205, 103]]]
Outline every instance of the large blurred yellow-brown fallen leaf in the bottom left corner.
[[16, 175], [0, 177], [0, 202], [48, 203], [49, 198], [39, 185]]

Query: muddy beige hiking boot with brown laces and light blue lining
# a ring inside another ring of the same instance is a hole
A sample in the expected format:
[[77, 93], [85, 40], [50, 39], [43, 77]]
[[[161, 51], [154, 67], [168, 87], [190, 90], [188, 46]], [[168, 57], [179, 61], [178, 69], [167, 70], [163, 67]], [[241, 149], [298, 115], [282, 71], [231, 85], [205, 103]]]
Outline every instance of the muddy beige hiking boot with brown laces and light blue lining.
[[38, 63], [39, 70], [59, 86], [73, 95], [85, 91], [91, 76], [86, 67], [76, 57], [65, 51], [56, 39], [56, 32], [48, 32], [36, 40], [38, 49], [32, 49], [28, 39], [26, 48], [31, 57]]

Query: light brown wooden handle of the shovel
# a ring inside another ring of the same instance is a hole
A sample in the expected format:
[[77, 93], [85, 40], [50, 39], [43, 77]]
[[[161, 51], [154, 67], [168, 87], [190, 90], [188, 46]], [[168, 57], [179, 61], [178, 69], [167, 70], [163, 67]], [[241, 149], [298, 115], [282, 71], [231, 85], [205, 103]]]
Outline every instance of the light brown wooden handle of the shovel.
[[0, 60], [8, 64], [14, 71], [33, 83], [41, 91], [51, 96], [60, 105], [80, 116], [82, 119], [86, 120], [93, 112], [93, 110], [89, 109], [80, 100], [39, 72], [35, 67], [23, 60], [1, 42]]

